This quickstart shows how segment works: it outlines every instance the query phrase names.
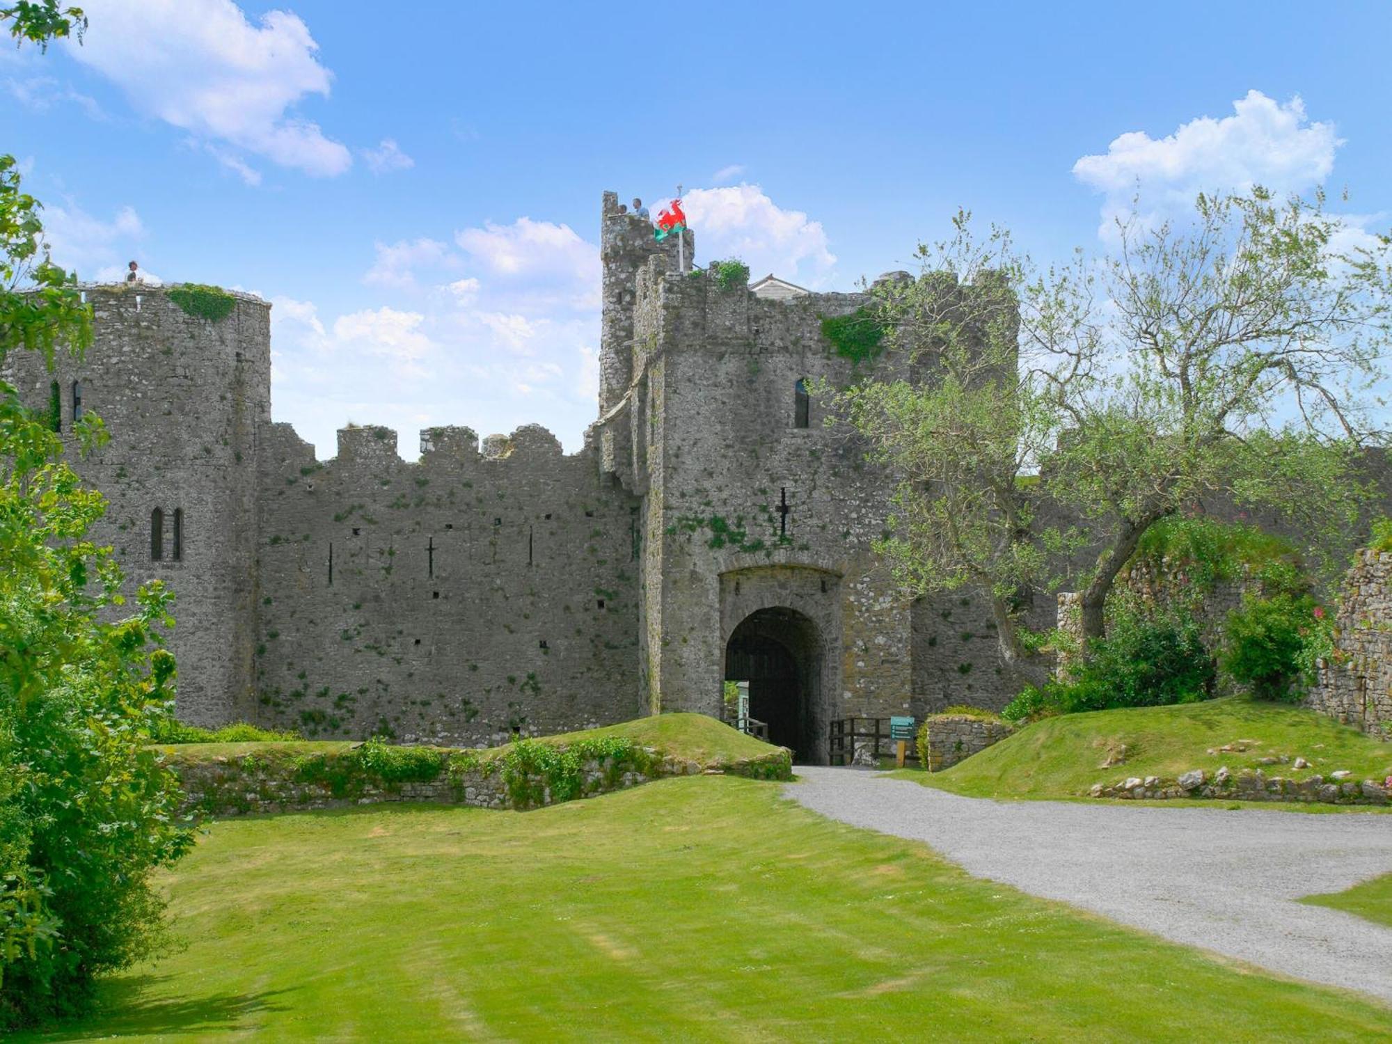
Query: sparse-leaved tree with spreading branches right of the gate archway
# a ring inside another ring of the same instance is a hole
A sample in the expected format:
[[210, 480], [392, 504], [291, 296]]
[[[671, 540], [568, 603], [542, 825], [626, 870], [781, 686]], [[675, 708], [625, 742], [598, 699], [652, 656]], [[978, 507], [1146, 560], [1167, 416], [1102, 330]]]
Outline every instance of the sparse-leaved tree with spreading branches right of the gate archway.
[[1122, 221], [1115, 251], [1040, 271], [959, 214], [917, 278], [871, 288], [909, 372], [821, 390], [899, 476], [881, 543], [899, 579], [988, 592], [1020, 664], [1031, 592], [1077, 583], [1101, 636], [1141, 536], [1204, 501], [1279, 512], [1315, 544], [1346, 532], [1392, 335], [1392, 249], [1350, 238], [1321, 196], [1257, 188], [1200, 196], [1186, 223]]

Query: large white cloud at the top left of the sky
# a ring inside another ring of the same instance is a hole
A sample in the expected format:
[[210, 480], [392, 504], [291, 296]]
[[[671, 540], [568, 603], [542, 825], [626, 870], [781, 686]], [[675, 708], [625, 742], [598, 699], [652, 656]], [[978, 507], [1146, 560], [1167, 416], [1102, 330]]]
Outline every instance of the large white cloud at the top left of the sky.
[[84, 10], [92, 28], [68, 54], [139, 111], [306, 174], [352, 164], [347, 148], [291, 111], [306, 95], [327, 96], [333, 78], [296, 15], [269, 11], [252, 25], [231, 0], [86, 0]]

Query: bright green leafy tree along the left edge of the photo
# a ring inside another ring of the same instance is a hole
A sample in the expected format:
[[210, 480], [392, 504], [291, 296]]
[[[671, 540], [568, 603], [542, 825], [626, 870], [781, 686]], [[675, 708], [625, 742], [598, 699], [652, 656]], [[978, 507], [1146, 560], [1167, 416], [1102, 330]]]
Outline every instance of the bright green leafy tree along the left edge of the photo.
[[[0, 8], [40, 45], [74, 17]], [[11, 352], [81, 358], [90, 340], [77, 278], [0, 156], [0, 367]], [[89, 537], [106, 501], [65, 454], [100, 445], [102, 422], [85, 415], [65, 445], [47, 420], [0, 380], [0, 1029], [81, 1011], [97, 974], [149, 955], [163, 927], [150, 870], [192, 844], [150, 746], [173, 707], [171, 596], [153, 582], [127, 604], [111, 548]]]

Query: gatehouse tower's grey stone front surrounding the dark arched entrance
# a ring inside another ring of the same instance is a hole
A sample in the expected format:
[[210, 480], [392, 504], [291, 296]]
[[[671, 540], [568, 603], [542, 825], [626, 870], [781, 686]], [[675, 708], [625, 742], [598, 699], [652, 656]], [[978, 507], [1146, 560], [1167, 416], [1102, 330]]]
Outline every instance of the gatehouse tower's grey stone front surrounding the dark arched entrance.
[[[821, 319], [864, 303], [856, 294], [764, 301], [714, 273], [639, 277], [635, 373], [646, 376], [644, 434], [636, 470], [644, 504], [644, 663], [650, 704], [718, 714], [724, 646], [739, 624], [724, 612], [781, 604], [749, 585], [816, 597], [835, 610], [805, 612], [825, 626], [837, 715], [888, 713], [910, 693], [909, 604], [870, 543], [885, 528], [891, 489], [863, 447], [827, 429], [813, 401], [795, 426], [799, 380], [852, 380], [853, 366], [821, 335]], [[786, 514], [782, 508], [786, 507]], [[789, 596], [791, 597], [791, 596]], [[784, 600], [782, 604], [786, 604]], [[727, 607], [728, 608], [728, 607]], [[800, 610], [799, 610], [800, 611]]]

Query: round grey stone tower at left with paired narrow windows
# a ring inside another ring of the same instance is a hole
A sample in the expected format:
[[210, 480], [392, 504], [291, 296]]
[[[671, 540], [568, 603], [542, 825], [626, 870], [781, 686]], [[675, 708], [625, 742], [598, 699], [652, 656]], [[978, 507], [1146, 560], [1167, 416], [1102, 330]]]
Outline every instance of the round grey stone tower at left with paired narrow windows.
[[[270, 419], [270, 305], [234, 294], [217, 320], [185, 313], [168, 291], [90, 285], [95, 340], [82, 361], [61, 355], [47, 372], [14, 352], [6, 379], [33, 408], [58, 386], [71, 464], [106, 494], [93, 539], [116, 547], [128, 587], [161, 579], [175, 593], [178, 714], [199, 724], [245, 718], [253, 704], [258, 433]], [[79, 458], [72, 440], [74, 381], [81, 408], [111, 441]], [[152, 560], [152, 511], [161, 508], [163, 558]], [[174, 511], [181, 547], [174, 557]]]

